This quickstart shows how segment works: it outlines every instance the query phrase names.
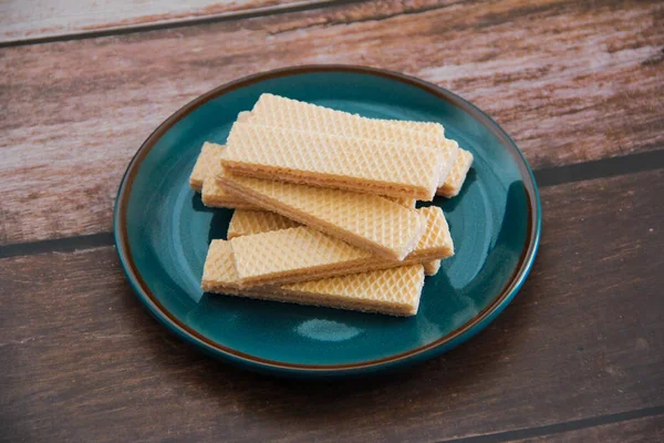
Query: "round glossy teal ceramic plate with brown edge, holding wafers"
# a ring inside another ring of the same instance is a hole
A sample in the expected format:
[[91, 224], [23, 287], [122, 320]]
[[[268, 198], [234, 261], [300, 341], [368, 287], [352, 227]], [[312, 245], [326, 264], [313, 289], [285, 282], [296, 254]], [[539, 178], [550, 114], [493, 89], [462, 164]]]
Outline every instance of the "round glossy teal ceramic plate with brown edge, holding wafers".
[[[456, 255], [428, 277], [412, 318], [204, 293], [208, 244], [232, 214], [205, 207], [188, 185], [203, 142], [224, 143], [263, 92], [369, 117], [440, 122], [475, 155], [460, 195], [443, 207]], [[429, 83], [359, 66], [301, 66], [220, 86], [177, 111], [129, 164], [115, 206], [120, 260], [138, 299], [173, 332], [253, 370], [346, 375], [437, 356], [486, 327], [521, 287], [541, 209], [532, 173], [510, 137], [473, 104]]]

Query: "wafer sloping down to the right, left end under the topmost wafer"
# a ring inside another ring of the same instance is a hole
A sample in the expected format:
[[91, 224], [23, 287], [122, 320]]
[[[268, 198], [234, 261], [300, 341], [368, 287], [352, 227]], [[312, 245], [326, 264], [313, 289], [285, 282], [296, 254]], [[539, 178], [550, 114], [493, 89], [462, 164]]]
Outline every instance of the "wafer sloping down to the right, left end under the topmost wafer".
[[230, 194], [385, 258], [403, 260], [426, 220], [414, 209], [372, 194], [226, 175]]

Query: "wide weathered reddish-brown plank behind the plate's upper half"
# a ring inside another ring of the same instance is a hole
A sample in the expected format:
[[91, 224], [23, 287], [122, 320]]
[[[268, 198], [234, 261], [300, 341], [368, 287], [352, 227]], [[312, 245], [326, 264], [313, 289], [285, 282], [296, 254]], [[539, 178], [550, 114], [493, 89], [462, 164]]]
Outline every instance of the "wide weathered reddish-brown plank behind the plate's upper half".
[[387, 68], [488, 111], [535, 167], [661, 148], [658, 1], [367, 2], [0, 50], [0, 244], [111, 229], [137, 147], [197, 95], [305, 63]]

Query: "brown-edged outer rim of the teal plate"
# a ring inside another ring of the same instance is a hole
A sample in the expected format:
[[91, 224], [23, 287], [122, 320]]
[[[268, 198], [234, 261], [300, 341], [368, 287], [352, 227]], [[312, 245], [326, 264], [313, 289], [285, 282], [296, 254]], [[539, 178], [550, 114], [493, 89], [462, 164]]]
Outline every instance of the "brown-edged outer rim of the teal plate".
[[[483, 126], [489, 130], [504, 146], [508, 148], [511, 156], [515, 158], [515, 163], [520, 172], [523, 181], [526, 193], [528, 195], [528, 226], [527, 226], [527, 245], [521, 251], [519, 257], [518, 266], [515, 268], [508, 282], [505, 285], [502, 290], [494, 298], [494, 300], [476, 313], [470, 320], [466, 321], [459, 328], [456, 328], [452, 332], [444, 337], [422, 347], [413, 348], [405, 352], [400, 352], [393, 356], [383, 357], [380, 359], [360, 361], [354, 363], [343, 364], [304, 364], [304, 363], [290, 363], [277, 360], [268, 360], [257, 356], [252, 356], [234, 348], [229, 348], [221, 343], [218, 343], [203, 333], [194, 330], [181, 320], [177, 319], [172, 312], [169, 312], [164, 305], [155, 297], [149, 290], [145, 280], [141, 276], [132, 256], [132, 249], [128, 241], [126, 214], [129, 196], [133, 189], [133, 183], [141, 169], [143, 159], [147, 156], [154, 145], [162, 138], [162, 136], [169, 131], [176, 123], [187, 116], [189, 113], [209, 102], [210, 100], [218, 99], [219, 96], [227, 94], [240, 87], [249, 86], [253, 83], [261, 81], [308, 74], [308, 73], [354, 73], [365, 74], [386, 78], [392, 81], [405, 83], [411, 86], [424, 90], [427, 93], [434, 94], [437, 99], [444, 100], [453, 105], [460, 107], [461, 110], [469, 113], [476, 121]], [[166, 119], [143, 142], [136, 154], [129, 162], [118, 187], [117, 196], [115, 199], [115, 207], [113, 214], [113, 235], [116, 246], [116, 253], [120, 258], [123, 271], [129, 281], [134, 293], [142, 301], [142, 303], [148, 309], [148, 311], [159, 322], [165, 324], [172, 332], [175, 332], [178, 337], [185, 341], [196, 346], [207, 353], [211, 353], [215, 357], [224, 358], [227, 361], [234, 363], [241, 363], [246, 367], [257, 370], [274, 370], [279, 373], [284, 374], [350, 374], [360, 373], [367, 371], [375, 371], [377, 369], [393, 368], [396, 365], [403, 365], [408, 362], [414, 362], [421, 359], [428, 359], [438, 356], [456, 346], [468, 340], [477, 332], [483, 330], [488, 323], [490, 323], [501, 311], [511, 302], [516, 293], [520, 290], [526, 277], [530, 272], [537, 250], [539, 247], [540, 235], [541, 235], [541, 204], [539, 189], [535, 179], [535, 175], [523, 156], [523, 153], [519, 150], [515, 141], [507, 134], [498, 123], [496, 123], [488, 114], [481, 111], [479, 107], [460, 97], [459, 95], [437, 86], [433, 83], [424, 80], [413, 78], [403, 73], [388, 71], [385, 69], [351, 65], [351, 64], [311, 64], [300, 66], [288, 66], [280, 68], [271, 71], [259, 72], [248, 76], [243, 76], [238, 80], [225, 83], [218, 87], [212, 89], [194, 99], [168, 119]]]

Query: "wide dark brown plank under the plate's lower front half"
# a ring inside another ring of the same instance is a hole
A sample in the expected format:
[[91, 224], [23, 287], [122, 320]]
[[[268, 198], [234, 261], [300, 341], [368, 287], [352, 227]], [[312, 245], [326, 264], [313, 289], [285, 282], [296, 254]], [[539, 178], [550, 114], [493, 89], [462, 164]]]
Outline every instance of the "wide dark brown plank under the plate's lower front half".
[[313, 385], [170, 338], [111, 247], [2, 259], [6, 436], [444, 441], [662, 406], [663, 192], [664, 169], [543, 189], [540, 254], [487, 331], [405, 372]]

